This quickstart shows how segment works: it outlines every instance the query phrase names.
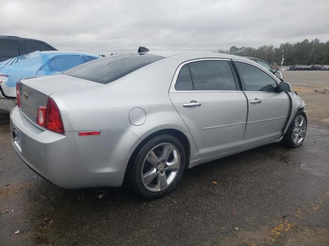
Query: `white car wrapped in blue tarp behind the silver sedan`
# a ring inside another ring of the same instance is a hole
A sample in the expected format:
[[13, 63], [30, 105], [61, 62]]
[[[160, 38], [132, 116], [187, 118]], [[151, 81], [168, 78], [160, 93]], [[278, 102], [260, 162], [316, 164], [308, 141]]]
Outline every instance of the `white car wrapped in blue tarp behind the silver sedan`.
[[16, 105], [16, 81], [21, 78], [56, 74], [101, 56], [62, 51], [35, 51], [0, 63], [0, 109]]

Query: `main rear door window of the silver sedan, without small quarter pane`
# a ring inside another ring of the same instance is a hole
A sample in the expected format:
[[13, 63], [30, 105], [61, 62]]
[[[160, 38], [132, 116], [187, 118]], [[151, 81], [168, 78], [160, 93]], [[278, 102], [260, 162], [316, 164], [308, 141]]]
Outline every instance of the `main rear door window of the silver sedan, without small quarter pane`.
[[228, 61], [203, 60], [188, 64], [197, 91], [234, 91], [236, 90], [233, 73]]

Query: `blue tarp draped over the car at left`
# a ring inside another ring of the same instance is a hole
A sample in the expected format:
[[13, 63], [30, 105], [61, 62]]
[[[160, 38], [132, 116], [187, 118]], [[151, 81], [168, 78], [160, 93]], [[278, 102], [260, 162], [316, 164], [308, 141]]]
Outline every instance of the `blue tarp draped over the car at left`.
[[86, 53], [35, 51], [0, 63], [0, 74], [9, 75], [6, 86], [15, 87], [21, 78], [63, 72], [101, 56]]

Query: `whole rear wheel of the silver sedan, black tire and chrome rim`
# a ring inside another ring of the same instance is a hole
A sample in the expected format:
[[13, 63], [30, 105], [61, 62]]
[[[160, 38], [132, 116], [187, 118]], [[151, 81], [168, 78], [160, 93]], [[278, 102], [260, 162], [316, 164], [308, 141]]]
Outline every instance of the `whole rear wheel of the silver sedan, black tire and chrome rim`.
[[185, 150], [172, 135], [159, 135], [137, 151], [131, 168], [134, 191], [146, 199], [156, 199], [173, 191], [186, 166]]

